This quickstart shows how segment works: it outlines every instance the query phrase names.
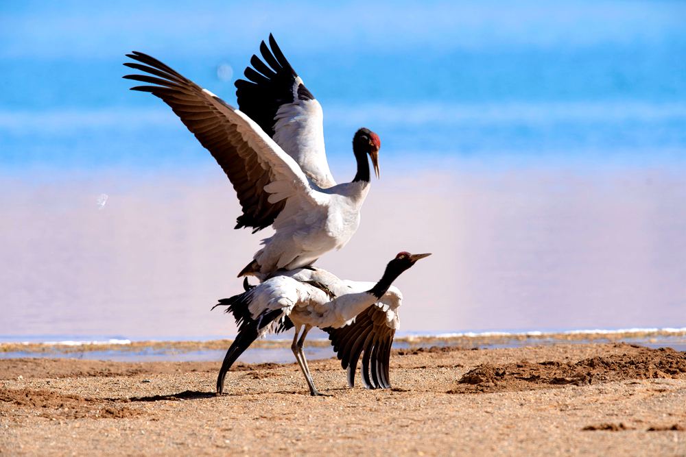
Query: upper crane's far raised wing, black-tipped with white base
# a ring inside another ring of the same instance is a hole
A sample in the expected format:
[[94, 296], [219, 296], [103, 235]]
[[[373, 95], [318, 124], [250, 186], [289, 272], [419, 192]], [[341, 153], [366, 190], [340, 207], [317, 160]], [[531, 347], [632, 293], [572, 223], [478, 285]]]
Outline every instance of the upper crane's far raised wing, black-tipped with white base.
[[[277, 145], [294, 158], [305, 175], [321, 188], [335, 186], [324, 150], [322, 106], [284, 57], [272, 34], [263, 41], [263, 60], [252, 55], [248, 79], [235, 82], [238, 108], [250, 116]], [[266, 63], [265, 63], [266, 62]]]

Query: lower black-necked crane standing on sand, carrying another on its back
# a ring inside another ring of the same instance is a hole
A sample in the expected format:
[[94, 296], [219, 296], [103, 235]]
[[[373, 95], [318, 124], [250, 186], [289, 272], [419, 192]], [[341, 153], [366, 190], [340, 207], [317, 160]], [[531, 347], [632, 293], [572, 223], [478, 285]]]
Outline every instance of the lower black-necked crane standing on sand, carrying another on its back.
[[[359, 356], [367, 388], [390, 388], [390, 347], [399, 326], [402, 295], [392, 282], [403, 271], [430, 254], [401, 252], [388, 262], [377, 283], [340, 280], [322, 269], [296, 269], [270, 277], [244, 293], [220, 300], [238, 324], [238, 334], [226, 351], [217, 377], [217, 393], [224, 391], [226, 372], [253, 341], [269, 332], [292, 326], [291, 349], [303, 371], [311, 395], [322, 395], [314, 386], [303, 345], [307, 332], [318, 327], [329, 333], [333, 349], [348, 370], [353, 386]], [[301, 332], [302, 331], [302, 332]]]

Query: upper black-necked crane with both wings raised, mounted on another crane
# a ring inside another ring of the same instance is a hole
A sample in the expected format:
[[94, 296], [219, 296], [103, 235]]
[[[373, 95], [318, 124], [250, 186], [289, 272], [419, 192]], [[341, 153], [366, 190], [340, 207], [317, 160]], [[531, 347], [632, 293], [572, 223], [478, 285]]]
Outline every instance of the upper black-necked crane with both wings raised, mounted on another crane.
[[[124, 65], [147, 74], [126, 75], [144, 82], [132, 90], [150, 92], [179, 116], [220, 164], [236, 190], [243, 214], [235, 228], [274, 234], [239, 273], [261, 280], [277, 270], [314, 263], [340, 249], [359, 226], [359, 210], [370, 186], [371, 158], [379, 175], [379, 136], [362, 128], [353, 136], [357, 173], [335, 184], [326, 154], [322, 109], [270, 35], [262, 42], [267, 66], [253, 56], [246, 69], [252, 82], [239, 80], [237, 110], [150, 55], [127, 54]], [[259, 73], [258, 73], [259, 71]]]

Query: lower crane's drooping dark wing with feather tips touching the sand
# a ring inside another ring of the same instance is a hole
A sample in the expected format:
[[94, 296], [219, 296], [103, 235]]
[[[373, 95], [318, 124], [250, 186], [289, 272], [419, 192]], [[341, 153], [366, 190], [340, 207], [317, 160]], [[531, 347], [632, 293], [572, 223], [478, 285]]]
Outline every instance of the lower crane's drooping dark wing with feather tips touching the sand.
[[362, 356], [362, 382], [366, 388], [390, 388], [388, 368], [390, 348], [395, 335], [395, 322], [388, 319], [388, 305], [379, 302], [357, 314], [355, 322], [342, 328], [325, 328], [333, 351], [343, 369], [347, 369], [348, 386], [355, 385], [357, 360]]

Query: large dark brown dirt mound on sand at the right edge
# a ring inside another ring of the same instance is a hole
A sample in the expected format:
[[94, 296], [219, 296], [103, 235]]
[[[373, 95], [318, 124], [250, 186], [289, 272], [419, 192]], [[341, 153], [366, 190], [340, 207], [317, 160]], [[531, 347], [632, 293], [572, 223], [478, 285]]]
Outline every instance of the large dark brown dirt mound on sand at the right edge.
[[484, 364], [465, 373], [448, 393], [525, 391], [650, 378], [686, 378], [686, 352], [641, 347], [630, 354], [596, 356], [578, 362]]

